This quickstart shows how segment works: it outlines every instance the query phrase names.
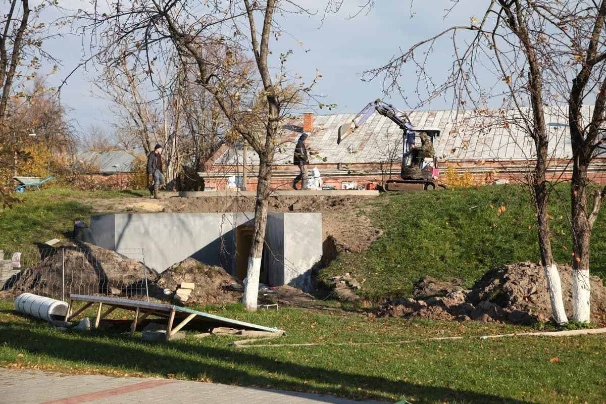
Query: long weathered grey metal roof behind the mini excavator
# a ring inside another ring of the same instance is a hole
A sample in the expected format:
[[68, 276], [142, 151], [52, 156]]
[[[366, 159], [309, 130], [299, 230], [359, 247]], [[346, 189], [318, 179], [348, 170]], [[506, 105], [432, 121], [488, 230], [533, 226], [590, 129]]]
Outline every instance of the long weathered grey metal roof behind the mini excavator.
[[[530, 108], [522, 110], [531, 114]], [[593, 105], [582, 110], [588, 121]], [[402, 130], [385, 116], [373, 114], [352, 134], [337, 145], [338, 128], [356, 114], [315, 115], [314, 130], [307, 139], [309, 150], [318, 151], [310, 164], [381, 163], [398, 160], [402, 155]], [[532, 139], [520, 127], [522, 116], [514, 110], [438, 110], [413, 111], [409, 114], [415, 127], [438, 127], [436, 157], [441, 161], [528, 161], [536, 158]], [[301, 119], [282, 122], [276, 146], [275, 164], [291, 164]], [[568, 130], [567, 108], [545, 108], [545, 121], [550, 135], [549, 157], [568, 159], [572, 151]], [[214, 165], [241, 164], [242, 153], [234, 148], [221, 149]], [[324, 161], [322, 161], [324, 159]], [[258, 164], [254, 152], [248, 153], [248, 164]]]

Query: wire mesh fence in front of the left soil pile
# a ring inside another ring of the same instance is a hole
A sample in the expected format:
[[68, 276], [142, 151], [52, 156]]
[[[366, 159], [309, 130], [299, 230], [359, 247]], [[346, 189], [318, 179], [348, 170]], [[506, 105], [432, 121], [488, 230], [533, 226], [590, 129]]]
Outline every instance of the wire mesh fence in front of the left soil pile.
[[87, 243], [0, 247], [0, 288], [65, 300], [70, 294], [149, 297], [143, 248], [110, 251]]

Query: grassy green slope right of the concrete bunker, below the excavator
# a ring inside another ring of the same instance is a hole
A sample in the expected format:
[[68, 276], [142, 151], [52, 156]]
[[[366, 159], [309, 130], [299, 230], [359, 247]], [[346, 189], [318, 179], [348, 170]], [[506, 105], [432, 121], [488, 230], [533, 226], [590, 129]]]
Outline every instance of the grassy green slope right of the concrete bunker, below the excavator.
[[[466, 286], [487, 270], [518, 261], [539, 262], [530, 196], [518, 185], [385, 194], [371, 214], [384, 234], [362, 253], [341, 254], [321, 279], [346, 272], [364, 281], [361, 296], [410, 296], [422, 276], [461, 278]], [[554, 259], [570, 263], [568, 188], [557, 187], [549, 211]], [[499, 213], [499, 208], [505, 211]], [[591, 238], [591, 273], [606, 277], [604, 210]]]

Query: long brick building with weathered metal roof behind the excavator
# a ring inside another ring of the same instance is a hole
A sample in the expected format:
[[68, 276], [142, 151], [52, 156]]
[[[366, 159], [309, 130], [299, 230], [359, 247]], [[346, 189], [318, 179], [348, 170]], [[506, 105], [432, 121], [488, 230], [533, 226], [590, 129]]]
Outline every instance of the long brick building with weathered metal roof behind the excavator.
[[[593, 113], [593, 106], [584, 108], [584, 116]], [[524, 113], [530, 114], [528, 108]], [[302, 132], [309, 150], [309, 168], [317, 167], [324, 185], [337, 189], [363, 188], [367, 184], [381, 184], [390, 177], [398, 177], [402, 157], [402, 130], [390, 119], [377, 113], [337, 145], [338, 128], [351, 122], [356, 114], [314, 115], [304, 113], [299, 118], [285, 119], [281, 123], [276, 145], [275, 164], [271, 187], [290, 189], [290, 181], [298, 174], [292, 165], [293, 151]], [[569, 179], [572, 172], [570, 136], [567, 110], [550, 107], [545, 110], [550, 134], [550, 180]], [[521, 129], [524, 116], [513, 110], [440, 110], [414, 111], [409, 115], [415, 127], [438, 127], [442, 133], [434, 146], [441, 173], [448, 166], [464, 172], [468, 170], [478, 182], [497, 179], [523, 180], [533, 169], [536, 153], [533, 141]], [[598, 148], [598, 156], [590, 168], [590, 177], [600, 184], [606, 183], [606, 154]], [[213, 154], [204, 173], [199, 173], [207, 188], [222, 190], [227, 178], [247, 177], [247, 190], [256, 189], [258, 156], [248, 151], [243, 164], [242, 147], [222, 145]]]

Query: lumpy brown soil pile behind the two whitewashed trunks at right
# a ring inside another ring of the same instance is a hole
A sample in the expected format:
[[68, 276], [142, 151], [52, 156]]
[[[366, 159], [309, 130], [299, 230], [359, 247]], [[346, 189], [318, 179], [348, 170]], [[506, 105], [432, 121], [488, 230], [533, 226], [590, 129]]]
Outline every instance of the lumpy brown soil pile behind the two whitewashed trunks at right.
[[[568, 318], [572, 314], [569, 265], [558, 265], [562, 297]], [[591, 277], [591, 321], [606, 324], [606, 287], [599, 277]], [[415, 285], [415, 298], [396, 299], [370, 316], [408, 317], [438, 320], [478, 320], [533, 324], [552, 317], [547, 280], [541, 265], [512, 263], [488, 271], [471, 288], [461, 288], [458, 279], [450, 282], [425, 277]], [[436, 296], [438, 295], [438, 296]], [[428, 297], [433, 296], [433, 297]]]

